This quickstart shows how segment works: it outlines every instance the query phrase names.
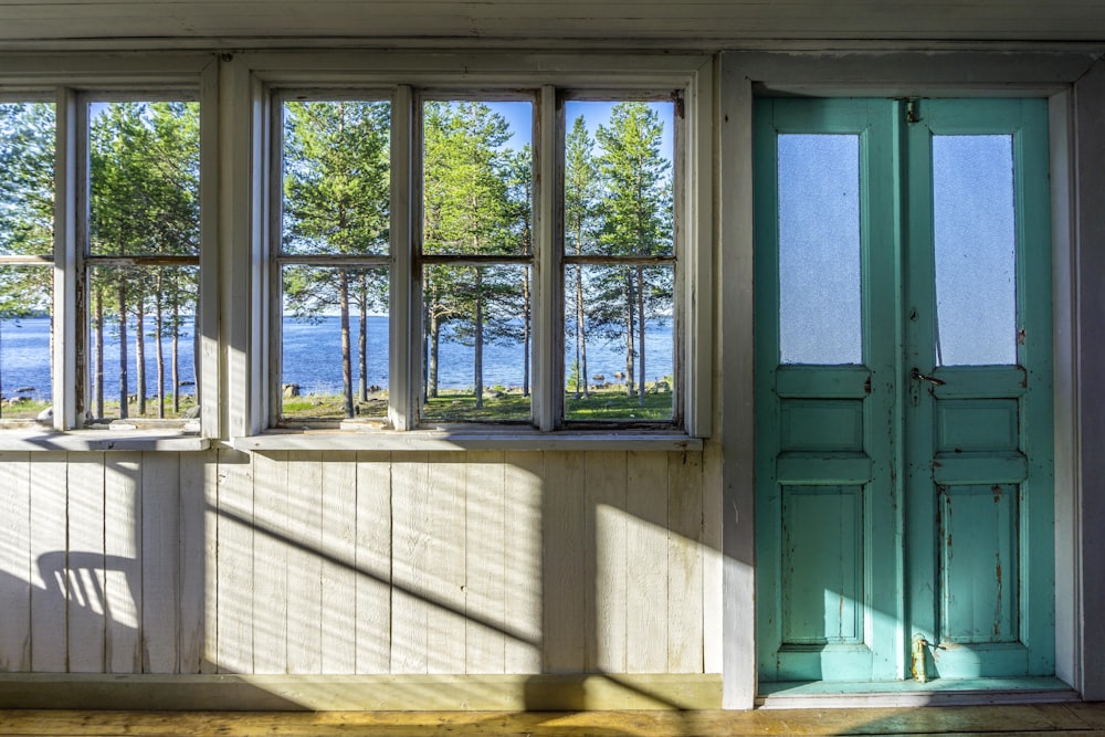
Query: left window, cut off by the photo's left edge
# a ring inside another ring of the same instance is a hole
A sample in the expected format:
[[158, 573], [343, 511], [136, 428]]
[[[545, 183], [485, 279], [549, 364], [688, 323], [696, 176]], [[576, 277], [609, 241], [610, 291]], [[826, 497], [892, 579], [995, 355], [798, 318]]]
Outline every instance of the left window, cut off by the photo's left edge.
[[41, 95], [0, 103], [0, 419], [196, 430], [199, 103]]

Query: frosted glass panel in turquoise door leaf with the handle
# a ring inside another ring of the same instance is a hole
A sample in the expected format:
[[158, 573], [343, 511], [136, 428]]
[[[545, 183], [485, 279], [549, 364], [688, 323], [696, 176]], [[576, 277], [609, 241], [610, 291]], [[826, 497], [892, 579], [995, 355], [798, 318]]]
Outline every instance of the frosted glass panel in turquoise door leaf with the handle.
[[1017, 362], [1012, 143], [933, 138], [939, 366]]

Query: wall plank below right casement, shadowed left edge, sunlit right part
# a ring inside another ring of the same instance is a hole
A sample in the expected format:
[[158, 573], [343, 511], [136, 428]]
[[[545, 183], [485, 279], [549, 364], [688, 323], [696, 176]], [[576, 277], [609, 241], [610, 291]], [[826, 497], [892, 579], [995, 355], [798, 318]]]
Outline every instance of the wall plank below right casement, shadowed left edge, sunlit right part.
[[625, 453], [588, 453], [587, 671], [625, 672]]

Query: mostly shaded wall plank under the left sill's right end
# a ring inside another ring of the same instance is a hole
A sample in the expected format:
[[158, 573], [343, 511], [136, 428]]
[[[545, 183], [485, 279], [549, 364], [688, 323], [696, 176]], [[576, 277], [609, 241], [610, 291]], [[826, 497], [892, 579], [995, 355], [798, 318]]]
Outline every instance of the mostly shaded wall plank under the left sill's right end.
[[[212, 545], [210, 550], [215, 550], [214, 543], [217, 527], [212, 524], [208, 530], [206, 525], [215, 522], [214, 515], [207, 519], [206, 493], [211, 494], [211, 502], [215, 501], [215, 474], [214, 453], [183, 453], [180, 455], [180, 492], [178, 494], [180, 515], [180, 551], [178, 555], [177, 576], [180, 581], [179, 594], [179, 630], [177, 633], [178, 662], [180, 673], [207, 673], [211, 672], [211, 663], [214, 660], [212, 647], [211, 653], [206, 652], [206, 645], [214, 645], [217, 633], [213, 628], [215, 617], [208, 619], [208, 603], [215, 601], [215, 587], [209, 586], [208, 572], [213, 579], [217, 571], [215, 561], [208, 561], [208, 539]], [[210, 486], [208, 485], [210, 483]], [[210, 601], [209, 601], [210, 597]], [[215, 614], [215, 610], [211, 610]], [[210, 642], [206, 639], [210, 636]]]

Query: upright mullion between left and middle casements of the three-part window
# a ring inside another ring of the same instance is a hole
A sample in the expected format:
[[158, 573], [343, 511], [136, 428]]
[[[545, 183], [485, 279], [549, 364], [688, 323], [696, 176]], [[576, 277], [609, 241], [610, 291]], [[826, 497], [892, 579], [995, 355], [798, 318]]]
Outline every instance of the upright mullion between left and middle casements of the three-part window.
[[414, 273], [415, 235], [419, 231], [413, 198], [413, 172], [420, 157], [414, 151], [414, 110], [411, 88], [396, 88], [391, 105], [391, 273], [389, 274], [389, 388], [388, 417], [396, 430], [418, 423], [415, 391], [421, 377], [421, 274]]

